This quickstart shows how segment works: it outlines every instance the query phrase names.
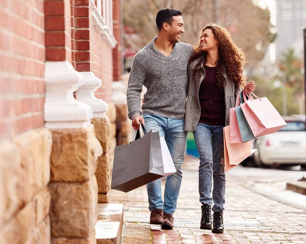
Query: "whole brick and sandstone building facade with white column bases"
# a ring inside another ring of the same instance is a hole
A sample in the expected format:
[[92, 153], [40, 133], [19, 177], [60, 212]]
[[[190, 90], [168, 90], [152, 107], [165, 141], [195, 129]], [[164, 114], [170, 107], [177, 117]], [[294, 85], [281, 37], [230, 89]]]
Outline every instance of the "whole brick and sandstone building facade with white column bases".
[[109, 203], [116, 132], [129, 134], [120, 0], [0, 11], [0, 242], [103, 243], [98, 202]]

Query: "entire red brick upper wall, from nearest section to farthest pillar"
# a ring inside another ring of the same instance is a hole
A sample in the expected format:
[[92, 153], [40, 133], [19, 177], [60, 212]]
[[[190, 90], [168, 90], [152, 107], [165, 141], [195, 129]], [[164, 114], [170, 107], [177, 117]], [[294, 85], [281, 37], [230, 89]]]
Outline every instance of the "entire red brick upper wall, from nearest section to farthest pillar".
[[[119, 0], [113, 2], [118, 9]], [[91, 5], [90, 0], [0, 1], [0, 139], [44, 125], [45, 61], [93, 71], [103, 82], [96, 97], [111, 102], [113, 79], [120, 80], [118, 51], [95, 28]]]

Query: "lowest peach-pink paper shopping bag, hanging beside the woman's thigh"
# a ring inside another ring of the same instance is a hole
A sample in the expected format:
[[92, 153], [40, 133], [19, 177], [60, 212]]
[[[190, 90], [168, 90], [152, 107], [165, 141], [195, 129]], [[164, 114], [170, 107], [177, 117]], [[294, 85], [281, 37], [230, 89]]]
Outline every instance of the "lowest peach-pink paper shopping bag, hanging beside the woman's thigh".
[[251, 149], [252, 143], [242, 142], [230, 144], [230, 126], [223, 128], [224, 141], [224, 172], [239, 165], [245, 158], [251, 155], [257, 149]]

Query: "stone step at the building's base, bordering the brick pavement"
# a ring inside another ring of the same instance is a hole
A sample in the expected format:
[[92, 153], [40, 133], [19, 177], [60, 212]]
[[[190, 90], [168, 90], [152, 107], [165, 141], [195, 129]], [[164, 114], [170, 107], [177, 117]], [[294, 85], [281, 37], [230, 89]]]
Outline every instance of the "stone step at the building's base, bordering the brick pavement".
[[98, 204], [98, 221], [95, 225], [97, 244], [120, 244], [122, 226], [122, 204]]

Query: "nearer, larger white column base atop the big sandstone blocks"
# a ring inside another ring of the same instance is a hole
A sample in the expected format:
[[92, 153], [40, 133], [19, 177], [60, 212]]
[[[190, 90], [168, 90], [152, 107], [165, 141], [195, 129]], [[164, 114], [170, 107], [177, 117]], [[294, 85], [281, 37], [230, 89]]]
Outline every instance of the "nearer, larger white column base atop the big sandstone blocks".
[[90, 124], [93, 117], [92, 108], [73, 97], [73, 92], [82, 86], [82, 79], [82, 75], [75, 71], [69, 62], [46, 62], [46, 128], [85, 128]]

